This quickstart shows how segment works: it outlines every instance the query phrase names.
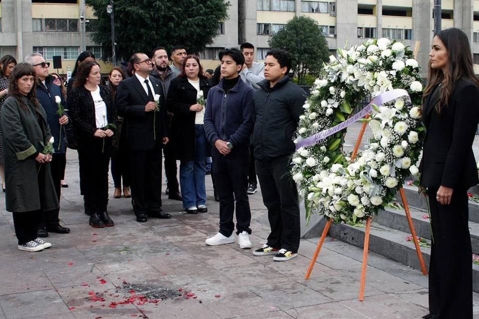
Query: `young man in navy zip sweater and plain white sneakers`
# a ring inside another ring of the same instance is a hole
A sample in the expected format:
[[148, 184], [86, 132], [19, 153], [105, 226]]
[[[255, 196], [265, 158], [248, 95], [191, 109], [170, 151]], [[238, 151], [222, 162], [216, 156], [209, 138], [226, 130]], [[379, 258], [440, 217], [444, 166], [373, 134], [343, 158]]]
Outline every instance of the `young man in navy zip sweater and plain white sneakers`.
[[[244, 64], [238, 49], [220, 52], [223, 79], [208, 93], [205, 132], [212, 148], [213, 174], [220, 196], [220, 231], [208, 238], [210, 246], [235, 242], [233, 213], [240, 248], [251, 248], [251, 211], [248, 186], [249, 136], [252, 131], [253, 90], [240, 79]], [[233, 197], [234, 194], [234, 197]]]

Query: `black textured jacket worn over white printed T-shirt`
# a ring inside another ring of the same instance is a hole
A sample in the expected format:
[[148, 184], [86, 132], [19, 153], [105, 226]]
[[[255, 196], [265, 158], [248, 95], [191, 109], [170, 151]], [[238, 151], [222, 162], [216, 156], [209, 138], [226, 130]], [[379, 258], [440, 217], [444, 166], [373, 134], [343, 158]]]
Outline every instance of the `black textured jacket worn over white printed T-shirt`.
[[[100, 85], [100, 96], [106, 104], [106, 118], [109, 124], [117, 124], [117, 115], [110, 89]], [[76, 138], [80, 141], [85, 138], [93, 138], [97, 128], [95, 119], [95, 103], [91, 92], [83, 85], [72, 88], [68, 98], [68, 109]], [[116, 130], [110, 128], [113, 132]]]

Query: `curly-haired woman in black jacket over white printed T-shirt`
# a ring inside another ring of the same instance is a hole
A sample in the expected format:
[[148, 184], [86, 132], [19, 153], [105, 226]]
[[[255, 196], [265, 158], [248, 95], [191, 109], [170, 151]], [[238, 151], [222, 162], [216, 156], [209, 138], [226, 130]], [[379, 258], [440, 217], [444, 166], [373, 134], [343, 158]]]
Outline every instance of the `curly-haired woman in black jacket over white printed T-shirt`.
[[68, 107], [76, 130], [80, 190], [90, 225], [95, 228], [113, 226], [108, 216], [108, 164], [112, 136], [116, 127], [116, 111], [110, 89], [100, 86], [100, 67], [96, 62], [83, 62], [78, 67]]

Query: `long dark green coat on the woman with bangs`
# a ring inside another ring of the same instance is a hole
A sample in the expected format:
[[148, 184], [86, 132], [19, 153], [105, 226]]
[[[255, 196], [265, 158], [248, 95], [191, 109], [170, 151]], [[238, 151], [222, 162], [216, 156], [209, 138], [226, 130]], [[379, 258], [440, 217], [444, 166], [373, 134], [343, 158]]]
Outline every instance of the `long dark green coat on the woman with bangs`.
[[26, 97], [21, 99], [23, 106], [20, 106], [16, 97], [8, 97], [0, 115], [5, 157], [6, 210], [25, 212], [58, 209], [50, 164], [39, 164], [32, 156], [37, 151], [41, 153], [51, 137], [45, 111], [41, 107], [35, 108]]

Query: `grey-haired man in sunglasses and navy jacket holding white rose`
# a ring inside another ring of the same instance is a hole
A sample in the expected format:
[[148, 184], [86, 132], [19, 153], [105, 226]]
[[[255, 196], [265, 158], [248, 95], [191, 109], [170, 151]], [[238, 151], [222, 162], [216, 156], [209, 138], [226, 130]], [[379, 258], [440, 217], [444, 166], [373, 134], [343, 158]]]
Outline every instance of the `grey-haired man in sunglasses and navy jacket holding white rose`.
[[[36, 98], [46, 113], [46, 121], [50, 127], [51, 135], [54, 138], [53, 149], [55, 153], [52, 154], [50, 162], [50, 171], [53, 183], [55, 184], [56, 196], [58, 202], [60, 201], [61, 193], [61, 176], [64, 164], [66, 162], [66, 146], [64, 143], [65, 130], [62, 126], [67, 125], [69, 118], [67, 112], [64, 111], [62, 116], [57, 114], [58, 105], [55, 102], [55, 97], [60, 97], [60, 103], [64, 109], [67, 109], [66, 101], [63, 98], [59, 86], [53, 83], [53, 76], [48, 73], [49, 62], [40, 53], [31, 53], [25, 57], [25, 62], [31, 64], [35, 69], [36, 74]], [[42, 212], [41, 223], [38, 228], [38, 237], [48, 237], [48, 232], [59, 234], [67, 234], [70, 228], [60, 226], [58, 219], [59, 209]]]

